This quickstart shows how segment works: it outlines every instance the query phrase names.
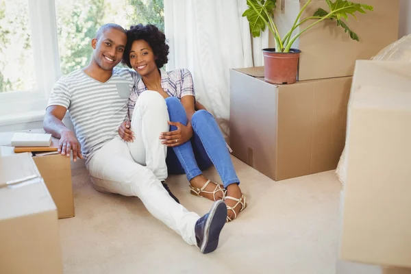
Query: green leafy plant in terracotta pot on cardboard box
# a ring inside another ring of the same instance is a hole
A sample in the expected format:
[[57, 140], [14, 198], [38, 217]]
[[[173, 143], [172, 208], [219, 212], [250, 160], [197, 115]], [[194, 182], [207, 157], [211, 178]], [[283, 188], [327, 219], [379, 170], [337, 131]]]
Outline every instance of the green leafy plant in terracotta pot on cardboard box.
[[[310, 5], [312, 0], [308, 0], [301, 8], [291, 29], [280, 36], [277, 25], [275, 25], [274, 8], [276, 0], [247, 0], [248, 9], [242, 14], [246, 16], [250, 24], [250, 30], [253, 37], [259, 37], [266, 27], [269, 28], [275, 39], [275, 49], [262, 49], [264, 55], [264, 78], [266, 82], [272, 84], [292, 84], [297, 79], [297, 69], [299, 49], [292, 49], [292, 44], [308, 29], [324, 20], [335, 20], [338, 26], [343, 27], [344, 31], [349, 34], [353, 40], [359, 41], [358, 35], [349, 29], [343, 21], [347, 21], [348, 15], [351, 14], [356, 18], [355, 13], [366, 13], [366, 10], [373, 10], [371, 5], [353, 3], [346, 0], [325, 0], [328, 5], [328, 11], [319, 8], [312, 16], [301, 18], [301, 14]], [[306, 21], [313, 21], [308, 27], [302, 29], [299, 33], [294, 34], [295, 30]]]

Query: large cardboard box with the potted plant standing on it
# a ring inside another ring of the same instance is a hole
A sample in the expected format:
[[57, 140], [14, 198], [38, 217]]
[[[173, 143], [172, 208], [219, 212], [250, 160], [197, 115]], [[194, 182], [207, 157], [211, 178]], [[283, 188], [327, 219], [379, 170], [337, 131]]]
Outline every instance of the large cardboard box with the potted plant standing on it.
[[230, 70], [233, 154], [276, 181], [335, 169], [351, 77], [277, 86], [251, 76], [263, 70]]

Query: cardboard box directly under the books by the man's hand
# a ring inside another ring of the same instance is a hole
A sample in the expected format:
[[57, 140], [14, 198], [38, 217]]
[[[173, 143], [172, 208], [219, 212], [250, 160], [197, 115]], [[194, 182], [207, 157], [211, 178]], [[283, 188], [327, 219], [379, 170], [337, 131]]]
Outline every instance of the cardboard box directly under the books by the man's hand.
[[[14, 153], [13, 148], [3, 147], [3, 155], [5, 153]], [[33, 159], [57, 206], [58, 219], [75, 216], [70, 158], [58, 154], [40, 155], [37, 152]]]

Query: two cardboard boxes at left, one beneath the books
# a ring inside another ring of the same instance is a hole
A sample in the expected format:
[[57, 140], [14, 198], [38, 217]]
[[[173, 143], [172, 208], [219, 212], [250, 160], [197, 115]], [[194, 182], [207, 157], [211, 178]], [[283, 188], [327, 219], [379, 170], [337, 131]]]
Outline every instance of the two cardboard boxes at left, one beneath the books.
[[71, 161], [16, 153], [0, 133], [0, 273], [62, 273], [58, 219], [74, 216]]

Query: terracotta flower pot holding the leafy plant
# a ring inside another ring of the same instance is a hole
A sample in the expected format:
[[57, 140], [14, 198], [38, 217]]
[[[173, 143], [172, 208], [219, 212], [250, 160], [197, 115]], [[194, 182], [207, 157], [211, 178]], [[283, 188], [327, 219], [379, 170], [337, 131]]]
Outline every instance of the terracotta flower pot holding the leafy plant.
[[275, 52], [262, 49], [264, 55], [264, 79], [271, 84], [293, 84], [297, 81], [299, 49], [290, 52]]

